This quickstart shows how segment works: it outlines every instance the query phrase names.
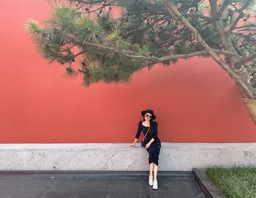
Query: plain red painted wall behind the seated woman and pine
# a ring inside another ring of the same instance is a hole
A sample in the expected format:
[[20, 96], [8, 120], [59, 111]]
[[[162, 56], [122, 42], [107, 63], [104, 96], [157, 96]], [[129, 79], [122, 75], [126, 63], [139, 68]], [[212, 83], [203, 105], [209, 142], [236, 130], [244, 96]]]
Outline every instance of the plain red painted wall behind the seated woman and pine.
[[83, 88], [80, 77], [63, 77], [23, 28], [49, 10], [45, 0], [1, 1], [1, 143], [133, 142], [146, 108], [157, 115], [162, 142], [256, 141], [236, 84], [211, 58], [143, 69], [128, 85]]

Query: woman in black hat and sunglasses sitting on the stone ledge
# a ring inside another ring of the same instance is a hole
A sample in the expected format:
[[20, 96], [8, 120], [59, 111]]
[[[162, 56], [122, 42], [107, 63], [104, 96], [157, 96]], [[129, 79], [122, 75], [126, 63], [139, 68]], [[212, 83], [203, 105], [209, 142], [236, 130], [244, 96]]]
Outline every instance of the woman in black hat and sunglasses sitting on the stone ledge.
[[[148, 164], [149, 164], [149, 179], [148, 184], [153, 186], [153, 189], [157, 189], [157, 168], [158, 168], [158, 156], [161, 148], [161, 141], [157, 137], [157, 121], [154, 121], [156, 115], [153, 110], [143, 110], [141, 115], [144, 117], [143, 121], [138, 123], [138, 132], [135, 136], [135, 141], [130, 146], [135, 146], [135, 143], [140, 137], [141, 130], [144, 134], [144, 141], [146, 143], [146, 151], [148, 151]], [[150, 126], [149, 130], [148, 127]], [[148, 131], [148, 134], [146, 132]], [[153, 180], [154, 170], [154, 180]]]

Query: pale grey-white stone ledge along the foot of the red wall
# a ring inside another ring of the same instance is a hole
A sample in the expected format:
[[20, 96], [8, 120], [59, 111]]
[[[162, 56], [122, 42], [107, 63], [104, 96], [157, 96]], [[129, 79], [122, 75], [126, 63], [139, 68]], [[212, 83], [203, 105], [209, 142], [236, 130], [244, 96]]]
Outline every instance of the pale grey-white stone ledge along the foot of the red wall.
[[[0, 144], [0, 170], [149, 170], [148, 152], [130, 143]], [[255, 165], [256, 142], [162, 142], [159, 171]]]

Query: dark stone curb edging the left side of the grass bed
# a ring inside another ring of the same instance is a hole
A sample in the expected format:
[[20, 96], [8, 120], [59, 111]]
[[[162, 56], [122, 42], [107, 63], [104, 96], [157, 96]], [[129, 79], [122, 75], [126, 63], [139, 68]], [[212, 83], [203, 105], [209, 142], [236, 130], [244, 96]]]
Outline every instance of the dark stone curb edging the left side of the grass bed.
[[193, 168], [192, 175], [200, 186], [201, 191], [208, 198], [225, 198], [221, 192], [217, 189], [217, 186], [211, 181], [210, 178], [206, 175], [206, 168]]

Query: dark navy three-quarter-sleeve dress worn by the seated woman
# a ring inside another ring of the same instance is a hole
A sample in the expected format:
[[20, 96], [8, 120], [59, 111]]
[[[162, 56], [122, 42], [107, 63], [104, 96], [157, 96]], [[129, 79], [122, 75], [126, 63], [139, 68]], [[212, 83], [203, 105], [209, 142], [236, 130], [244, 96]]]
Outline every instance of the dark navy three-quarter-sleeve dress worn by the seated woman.
[[146, 151], [148, 151], [148, 153], [149, 153], [148, 164], [151, 164], [152, 162], [154, 162], [154, 164], [157, 164], [157, 166], [158, 166], [158, 159], [159, 159], [158, 156], [159, 156], [160, 149], [161, 149], [161, 141], [157, 137], [157, 121], [154, 121], [154, 124], [155, 124], [155, 127], [154, 127], [154, 132], [152, 134], [152, 137], [150, 137], [149, 132], [145, 137], [145, 134], [148, 131], [149, 126], [143, 126], [142, 121], [139, 121], [138, 132], [137, 132], [135, 138], [139, 139], [141, 131], [143, 131], [143, 134], [145, 137], [144, 141], [146, 144], [151, 140], [151, 138], [154, 138], [154, 142], [151, 143], [151, 145], [146, 149]]

